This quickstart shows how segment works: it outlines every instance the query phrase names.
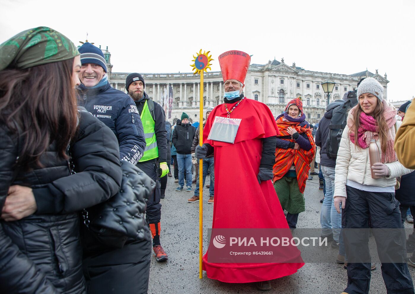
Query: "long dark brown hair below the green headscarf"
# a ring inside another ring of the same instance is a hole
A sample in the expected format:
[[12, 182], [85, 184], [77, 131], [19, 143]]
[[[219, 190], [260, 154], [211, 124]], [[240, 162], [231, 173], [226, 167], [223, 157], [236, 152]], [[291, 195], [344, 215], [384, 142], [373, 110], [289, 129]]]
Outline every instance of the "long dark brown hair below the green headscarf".
[[17, 165], [41, 167], [40, 156], [56, 141], [61, 158], [76, 134], [73, 58], [24, 70], [0, 71], [0, 124], [18, 133]]

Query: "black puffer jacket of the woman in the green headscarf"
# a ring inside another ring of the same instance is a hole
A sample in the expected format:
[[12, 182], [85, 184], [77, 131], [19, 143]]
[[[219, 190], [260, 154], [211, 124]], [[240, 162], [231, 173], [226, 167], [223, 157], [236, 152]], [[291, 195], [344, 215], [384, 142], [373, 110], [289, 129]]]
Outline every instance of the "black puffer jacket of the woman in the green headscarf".
[[0, 211], [10, 185], [32, 187], [38, 210], [19, 221], [0, 221], [0, 293], [85, 293], [76, 211], [115, 194], [121, 184], [118, 141], [88, 112], [80, 112], [72, 156], [83, 172], [71, 175], [52, 143], [44, 168], [15, 168], [17, 136], [0, 126]]

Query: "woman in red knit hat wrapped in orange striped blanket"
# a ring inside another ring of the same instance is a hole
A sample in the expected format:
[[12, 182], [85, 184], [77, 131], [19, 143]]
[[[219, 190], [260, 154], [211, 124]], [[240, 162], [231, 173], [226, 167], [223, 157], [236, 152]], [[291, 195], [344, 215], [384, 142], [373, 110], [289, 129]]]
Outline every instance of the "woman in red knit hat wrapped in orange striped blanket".
[[288, 102], [276, 122], [281, 135], [277, 137], [273, 183], [281, 206], [288, 211], [288, 226], [296, 228], [298, 214], [305, 211], [303, 193], [315, 144], [300, 98]]

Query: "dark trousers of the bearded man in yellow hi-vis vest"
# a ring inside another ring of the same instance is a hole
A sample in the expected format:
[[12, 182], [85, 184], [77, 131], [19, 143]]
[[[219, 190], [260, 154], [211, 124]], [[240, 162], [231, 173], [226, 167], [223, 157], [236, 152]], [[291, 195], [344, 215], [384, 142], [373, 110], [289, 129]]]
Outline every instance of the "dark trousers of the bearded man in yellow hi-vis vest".
[[160, 203], [160, 178], [157, 173], [159, 168], [156, 159], [139, 162], [137, 167], [142, 170], [146, 175], [151, 177], [151, 179], [156, 182], [156, 188], [153, 191], [153, 197], [150, 197], [147, 201], [146, 209], [146, 220], [147, 224], [156, 224], [160, 222], [161, 219], [161, 203]]

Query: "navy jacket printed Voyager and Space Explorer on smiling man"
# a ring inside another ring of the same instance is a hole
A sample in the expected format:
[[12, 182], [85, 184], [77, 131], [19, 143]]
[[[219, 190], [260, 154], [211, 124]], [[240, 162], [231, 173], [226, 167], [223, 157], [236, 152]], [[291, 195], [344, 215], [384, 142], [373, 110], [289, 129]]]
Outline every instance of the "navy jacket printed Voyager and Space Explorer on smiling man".
[[78, 86], [78, 105], [108, 126], [118, 139], [120, 160], [137, 164], [146, 140], [137, 107], [127, 94], [107, 83], [100, 87]]

